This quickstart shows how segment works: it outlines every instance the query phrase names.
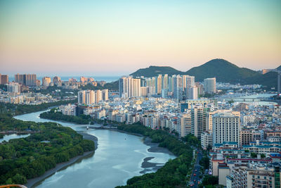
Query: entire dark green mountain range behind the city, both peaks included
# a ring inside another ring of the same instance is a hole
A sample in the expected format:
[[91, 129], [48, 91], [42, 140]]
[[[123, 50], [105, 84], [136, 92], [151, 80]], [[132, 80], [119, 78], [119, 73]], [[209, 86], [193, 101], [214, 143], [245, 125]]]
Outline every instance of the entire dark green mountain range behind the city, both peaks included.
[[[277, 68], [281, 70], [281, 65]], [[202, 82], [207, 77], [216, 77], [217, 82], [230, 82], [240, 84], [262, 84], [266, 89], [275, 87], [277, 89], [277, 73], [269, 72], [264, 75], [249, 68], [240, 68], [221, 58], [216, 58], [198, 67], [191, 68], [186, 72], [176, 70], [169, 66], [150, 66], [141, 68], [133, 77], [154, 77], [159, 74], [168, 75], [192, 75], [196, 82]]]

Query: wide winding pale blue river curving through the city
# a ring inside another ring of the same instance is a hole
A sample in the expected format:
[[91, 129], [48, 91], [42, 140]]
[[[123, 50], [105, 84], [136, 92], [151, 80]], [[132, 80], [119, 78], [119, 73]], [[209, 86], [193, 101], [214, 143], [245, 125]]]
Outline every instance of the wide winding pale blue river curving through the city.
[[141, 167], [145, 158], [151, 157], [149, 162], [159, 163], [158, 165], [163, 165], [169, 158], [176, 158], [171, 153], [149, 152], [150, 146], [143, 143], [143, 137], [113, 130], [86, 130], [86, 125], [41, 119], [39, 114], [42, 112], [44, 111], [14, 118], [34, 122], [56, 122], [73, 130], [92, 134], [98, 138], [98, 149], [93, 156], [59, 170], [34, 187], [116, 187], [126, 184], [126, 180], [133, 176], [142, 175], [141, 171], [155, 172], [153, 168]]

